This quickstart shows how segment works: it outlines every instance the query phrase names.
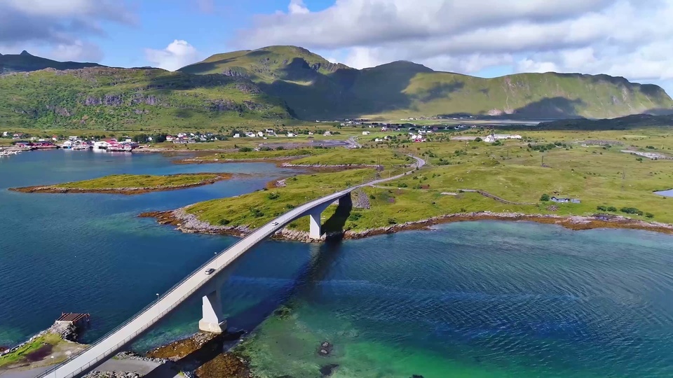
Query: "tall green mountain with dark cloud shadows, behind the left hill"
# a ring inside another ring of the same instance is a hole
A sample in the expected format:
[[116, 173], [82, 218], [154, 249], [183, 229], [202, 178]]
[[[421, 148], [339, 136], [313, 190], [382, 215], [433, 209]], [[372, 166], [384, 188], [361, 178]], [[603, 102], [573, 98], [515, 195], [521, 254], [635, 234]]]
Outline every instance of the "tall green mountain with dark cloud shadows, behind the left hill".
[[517, 118], [613, 118], [667, 112], [657, 85], [579, 73], [519, 73], [477, 78], [412, 62], [352, 69], [294, 46], [218, 54], [179, 71], [253, 80], [299, 118], [404, 118], [469, 113]]

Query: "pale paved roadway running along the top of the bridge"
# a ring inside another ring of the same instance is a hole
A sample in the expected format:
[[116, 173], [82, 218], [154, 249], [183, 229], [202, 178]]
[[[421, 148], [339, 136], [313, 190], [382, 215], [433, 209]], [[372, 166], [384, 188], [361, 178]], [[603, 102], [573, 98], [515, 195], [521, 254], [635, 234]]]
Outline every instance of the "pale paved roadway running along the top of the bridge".
[[[425, 161], [423, 161], [421, 158], [416, 158], [413, 156], [412, 158], [416, 159], [417, 167], [423, 167], [425, 164]], [[382, 183], [383, 181], [398, 179], [402, 176], [405, 176], [405, 174], [412, 172], [413, 171], [409, 171], [404, 174], [390, 177], [388, 179], [370, 181], [369, 183], [365, 183], [360, 186], [376, 185], [377, 183]], [[214, 268], [217, 272], [222, 271], [222, 269], [224, 269], [227, 265], [236, 260], [238, 256], [257, 245], [259, 241], [266, 239], [268, 236], [283, 228], [283, 226], [285, 226], [287, 223], [290, 223], [295, 219], [300, 218], [301, 216], [305, 216], [306, 213], [311, 211], [311, 209], [314, 207], [319, 207], [326, 203], [332, 203], [336, 200], [339, 200], [339, 198], [344, 197], [344, 195], [351, 193], [353, 189], [359, 188], [360, 186], [354, 186], [331, 195], [326, 195], [325, 197], [321, 197], [318, 200], [308, 202], [293, 209], [292, 211], [288, 211], [286, 214], [279, 216], [272, 222], [266, 223], [266, 225], [257, 228], [257, 230], [254, 230], [252, 234], [248, 235], [244, 239], [241, 239], [238, 241], [238, 243], [229, 247], [229, 249], [223, 253], [219, 253], [219, 255], [216, 255], [214, 258], [210, 259], [200, 268], [189, 274], [189, 276], [186, 276], [185, 279], [179, 282], [176, 286], [173, 286], [172, 289], [159, 297], [158, 300], [151, 303], [148, 307], [142, 309], [139, 313], [135, 314], [135, 316], [120, 325], [118, 328], [115, 328], [107, 335], [99, 339], [97, 342], [92, 344], [89, 349], [86, 349], [86, 351], [83, 351], [83, 353], [75, 356], [74, 358], [71, 358], [67, 363], [56, 365], [38, 377], [81, 377], [86, 372], [93, 370], [94, 367], [100, 365], [100, 363], [113, 356], [117, 351], [123, 348], [123, 346], [132, 342], [132, 340], [138, 337], [142, 332], [144, 332], [144, 330], [147, 330], [152, 325], [154, 325], [154, 323], [161, 320], [163, 316], [166, 316], [170, 311], [172, 311], [172, 309], [175, 309], [175, 307], [193, 295], [196, 290], [217, 276], [217, 274], [204, 274], [205, 269]]]

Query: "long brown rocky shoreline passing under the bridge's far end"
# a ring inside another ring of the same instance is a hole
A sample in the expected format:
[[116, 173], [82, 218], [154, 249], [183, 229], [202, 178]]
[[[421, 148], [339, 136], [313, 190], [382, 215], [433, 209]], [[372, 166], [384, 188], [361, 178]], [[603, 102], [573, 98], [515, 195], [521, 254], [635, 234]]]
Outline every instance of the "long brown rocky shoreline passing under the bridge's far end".
[[[188, 207], [182, 207], [173, 211], [152, 211], [140, 214], [143, 218], [156, 218], [162, 225], [172, 225], [185, 233], [200, 233], [210, 235], [232, 235], [236, 237], [246, 237], [253, 231], [246, 225], [226, 226], [211, 225], [208, 222], [200, 221], [196, 215], [186, 212]], [[473, 213], [456, 213], [435, 216], [432, 218], [421, 219], [388, 225], [381, 228], [372, 228], [368, 230], [346, 230], [327, 235], [322, 235], [319, 240], [311, 239], [308, 232], [299, 230], [290, 230], [283, 228], [273, 235], [275, 239], [285, 239], [303, 242], [320, 242], [325, 239], [338, 237], [340, 239], [362, 239], [374, 235], [392, 234], [403, 230], [426, 230], [432, 225], [452, 222], [465, 221], [531, 221], [537, 223], [556, 224], [570, 230], [592, 230], [595, 228], [626, 228], [632, 230], [648, 230], [673, 234], [673, 225], [667, 223], [656, 223], [639, 221], [623, 216], [611, 214], [594, 214], [592, 216], [557, 216], [553, 214], [522, 214], [522, 213], [494, 213], [491, 211], [477, 211]]]

